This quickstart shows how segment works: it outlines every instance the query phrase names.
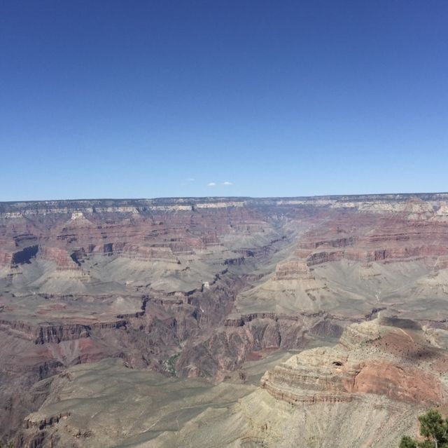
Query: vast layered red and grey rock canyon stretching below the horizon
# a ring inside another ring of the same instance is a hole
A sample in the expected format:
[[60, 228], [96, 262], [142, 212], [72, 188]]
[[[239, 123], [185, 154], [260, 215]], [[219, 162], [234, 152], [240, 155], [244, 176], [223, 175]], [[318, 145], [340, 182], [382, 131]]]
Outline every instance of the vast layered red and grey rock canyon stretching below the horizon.
[[447, 319], [448, 194], [0, 203], [1, 440], [397, 447]]

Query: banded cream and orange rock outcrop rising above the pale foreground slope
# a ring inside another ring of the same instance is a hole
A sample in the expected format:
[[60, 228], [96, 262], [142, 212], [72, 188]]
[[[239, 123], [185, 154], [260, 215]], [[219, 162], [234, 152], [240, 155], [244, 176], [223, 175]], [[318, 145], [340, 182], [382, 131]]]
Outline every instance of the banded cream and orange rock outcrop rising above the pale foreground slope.
[[349, 327], [335, 347], [304, 351], [276, 366], [261, 385], [291, 403], [377, 394], [430, 407], [448, 401], [447, 362], [447, 353], [430, 346], [422, 332], [375, 320]]

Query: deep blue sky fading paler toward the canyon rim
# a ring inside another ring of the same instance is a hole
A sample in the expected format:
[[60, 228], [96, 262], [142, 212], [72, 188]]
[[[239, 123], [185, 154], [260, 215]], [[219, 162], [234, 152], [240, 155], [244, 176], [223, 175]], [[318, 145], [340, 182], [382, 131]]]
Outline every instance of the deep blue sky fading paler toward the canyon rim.
[[448, 191], [447, 0], [1, 0], [0, 201]]

